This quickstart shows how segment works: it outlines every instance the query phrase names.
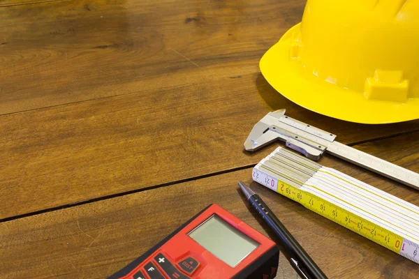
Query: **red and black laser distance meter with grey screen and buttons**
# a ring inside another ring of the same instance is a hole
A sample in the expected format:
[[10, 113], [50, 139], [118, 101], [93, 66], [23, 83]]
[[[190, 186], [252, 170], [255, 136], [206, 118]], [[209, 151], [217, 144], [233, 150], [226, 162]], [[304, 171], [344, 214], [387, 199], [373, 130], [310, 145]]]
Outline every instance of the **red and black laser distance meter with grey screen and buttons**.
[[278, 261], [273, 241], [210, 204], [108, 279], [269, 279]]

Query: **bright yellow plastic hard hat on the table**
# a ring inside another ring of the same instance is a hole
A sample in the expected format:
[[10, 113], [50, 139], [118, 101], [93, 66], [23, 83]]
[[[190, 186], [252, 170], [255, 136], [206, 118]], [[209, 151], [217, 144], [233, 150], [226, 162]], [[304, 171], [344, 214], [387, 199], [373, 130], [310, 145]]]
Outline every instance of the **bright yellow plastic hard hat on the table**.
[[419, 1], [308, 0], [260, 59], [274, 89], [358, 123], [419, 119]]

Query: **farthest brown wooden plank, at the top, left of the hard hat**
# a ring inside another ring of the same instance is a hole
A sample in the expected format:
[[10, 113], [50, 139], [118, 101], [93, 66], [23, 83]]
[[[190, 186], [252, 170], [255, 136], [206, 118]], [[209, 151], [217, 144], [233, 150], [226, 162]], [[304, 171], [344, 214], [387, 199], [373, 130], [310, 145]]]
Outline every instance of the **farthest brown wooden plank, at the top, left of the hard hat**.
[[[258, 59], [301, 20], [304, 4], [74, 0], [5, 8], [0, 114], [259, 72]], [[237, 63], [249, 59], [250, 68]]]

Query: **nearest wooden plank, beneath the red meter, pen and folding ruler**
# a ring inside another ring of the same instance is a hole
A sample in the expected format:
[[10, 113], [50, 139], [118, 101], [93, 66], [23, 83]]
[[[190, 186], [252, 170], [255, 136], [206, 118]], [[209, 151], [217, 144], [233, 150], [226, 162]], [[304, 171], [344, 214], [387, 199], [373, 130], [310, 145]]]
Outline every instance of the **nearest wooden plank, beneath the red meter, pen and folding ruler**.
[[[418, 172], [418, 134], [358, 148]], [[417, 190], [329, 156], [322, 164], [419, 206]], [[210, 203], [267, 235], [237, 193], [238, 180], [250, 183], [251, 169], [0, 223], [0, 277], [104, 278]], [[267, 188], [256, 183], [251, 187], [329, 278], [417, 278], [418, 265], [409, 259]]]

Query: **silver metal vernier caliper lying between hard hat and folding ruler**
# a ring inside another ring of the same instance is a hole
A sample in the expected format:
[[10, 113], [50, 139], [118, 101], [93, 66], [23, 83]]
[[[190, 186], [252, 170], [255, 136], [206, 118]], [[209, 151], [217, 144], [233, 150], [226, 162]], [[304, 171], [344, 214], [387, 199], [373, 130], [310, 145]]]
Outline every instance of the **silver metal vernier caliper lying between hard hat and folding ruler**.
[[255, 151], [279, 139], [311, 160], [319, 160], [328, 151], [333, 156], [419, 190], [419, 174], [416, 172], [336, 142], [335, 138], [336, 135], [286, 116], [285, 110], [277, 110], [256, 123], [244, 142], [244, 149]]

